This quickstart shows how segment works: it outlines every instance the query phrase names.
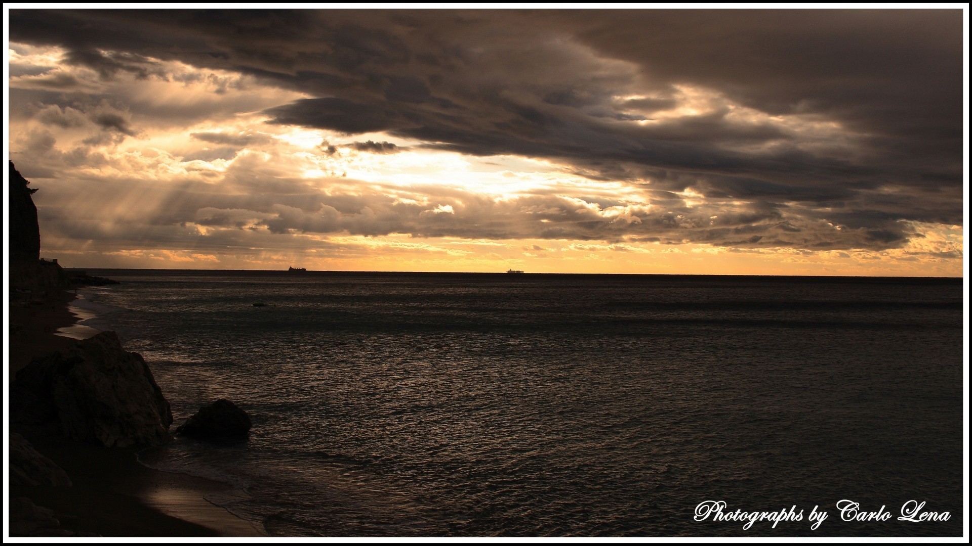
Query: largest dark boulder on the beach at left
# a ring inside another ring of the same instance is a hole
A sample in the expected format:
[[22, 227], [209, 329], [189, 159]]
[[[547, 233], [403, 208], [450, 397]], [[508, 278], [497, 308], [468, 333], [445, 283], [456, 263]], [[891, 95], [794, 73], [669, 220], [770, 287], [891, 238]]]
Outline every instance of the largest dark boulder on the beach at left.
[[13, 427], [60, 432], [106, 447], [169, 440], [169, 403], [145, 359], [113, 331], [35, 358], [11, 385]]

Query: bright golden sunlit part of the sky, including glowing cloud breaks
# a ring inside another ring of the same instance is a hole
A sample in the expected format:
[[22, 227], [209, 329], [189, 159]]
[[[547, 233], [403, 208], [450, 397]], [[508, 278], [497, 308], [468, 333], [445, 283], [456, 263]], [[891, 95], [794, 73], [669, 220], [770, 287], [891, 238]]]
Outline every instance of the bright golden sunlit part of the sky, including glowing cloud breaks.
[[[650, 178], [595, 180], [566, 161], [434, 150], [382, 131], [349, 136], [274, 124], [263, 110], [308, 95], [157, 59], [168, 79], [122, 74], [104, 81], [61, 63], [63, 54], [9, 50], [12, 64], [49, 68], [12, 77], [11, 88], [53, 89], [55, 77], [70, 77], [122, 97], [40, 105], [10, 122], [11, 158], [41, 188], [34, 199], [42, 253], [72, 267], [961, 275], [961, 226], [933, 222], [911, 222], [920, 236], [886, 250], [746, 247], [743, 235], [739, 246], [665, 244], [634, 234], [572, 239], [559, 236], [560, 227], [533, 236], [537, 228], [528, 222], [697, 229], [701, 221], [689, 217], [713, 203], [719, 210], [705, 222], [717, 226], [727, 215], [743, 216], [747, 202], [693, 188], [656, 190]], [[676, 90], [677, 107], [616, 123], [663, 125], [725, 110], [730, 121], [799, 134], [801, 146], [835, 157], [853, 137], [833, 120], [771, 116], [703, 87]], [[766, 146], [742, 143], [733, 151]], [[675, 213], [644, 218], [663, 210]], [[405, 228], [412, 232], [397, 230]], [[455, 235], [464, 230], [468, 237]]]

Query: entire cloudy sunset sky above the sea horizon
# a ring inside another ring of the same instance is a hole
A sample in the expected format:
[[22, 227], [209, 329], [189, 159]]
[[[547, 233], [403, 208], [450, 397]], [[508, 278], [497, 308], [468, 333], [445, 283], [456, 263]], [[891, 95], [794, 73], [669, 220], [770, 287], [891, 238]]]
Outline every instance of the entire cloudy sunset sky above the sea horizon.
[[9, 11], [71, 267], [961, 276], [962, 11]]

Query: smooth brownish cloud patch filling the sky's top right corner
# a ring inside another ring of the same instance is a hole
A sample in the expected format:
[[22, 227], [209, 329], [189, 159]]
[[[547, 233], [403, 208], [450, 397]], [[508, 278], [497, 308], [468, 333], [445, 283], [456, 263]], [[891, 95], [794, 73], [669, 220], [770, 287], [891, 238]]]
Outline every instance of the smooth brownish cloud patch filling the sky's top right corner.
[[591, 15], [552, 14], [660, 82], [712, 85], [772, 114], [840, 113], [871, 130], [909, 126], [925, 136], [955, 131], [960, 10], [611, 11], [596, 22]]

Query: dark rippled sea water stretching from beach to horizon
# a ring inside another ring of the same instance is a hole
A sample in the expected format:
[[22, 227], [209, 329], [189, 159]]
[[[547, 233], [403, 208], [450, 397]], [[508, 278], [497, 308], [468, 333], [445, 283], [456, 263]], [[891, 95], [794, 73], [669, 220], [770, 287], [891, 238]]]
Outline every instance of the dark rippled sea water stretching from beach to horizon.
[[270, 534], [961, 535], [959, 280], [90, 273], [177, 425], [253, 417], [142, 460]]

